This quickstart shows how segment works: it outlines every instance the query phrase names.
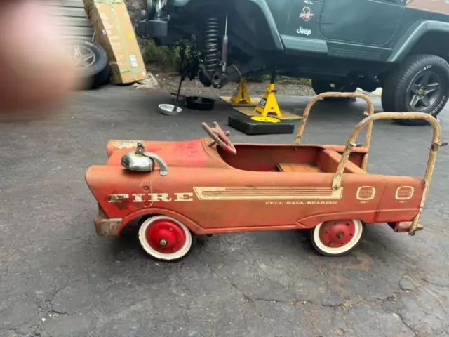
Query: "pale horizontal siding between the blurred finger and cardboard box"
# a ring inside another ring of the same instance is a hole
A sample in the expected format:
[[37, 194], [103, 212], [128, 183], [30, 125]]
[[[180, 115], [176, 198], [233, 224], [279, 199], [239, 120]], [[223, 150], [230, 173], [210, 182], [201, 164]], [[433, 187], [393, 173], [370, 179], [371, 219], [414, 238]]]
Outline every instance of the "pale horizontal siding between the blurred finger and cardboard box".
[[46, 6], [51, 6], [63, 35], [92, 39], [93, 28], [84, 11], [82, 0], [47, 0], [45, 3]]

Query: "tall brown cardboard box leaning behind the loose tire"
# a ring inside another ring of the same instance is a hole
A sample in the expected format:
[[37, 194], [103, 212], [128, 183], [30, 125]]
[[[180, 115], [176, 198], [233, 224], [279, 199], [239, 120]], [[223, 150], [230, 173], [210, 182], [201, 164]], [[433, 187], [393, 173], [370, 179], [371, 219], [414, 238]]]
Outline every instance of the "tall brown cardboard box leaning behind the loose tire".
[[111, 81], [129, 84], [147, 79], [142, 53], [123, 0], [83, 0], [98, 44], [111, 65]]

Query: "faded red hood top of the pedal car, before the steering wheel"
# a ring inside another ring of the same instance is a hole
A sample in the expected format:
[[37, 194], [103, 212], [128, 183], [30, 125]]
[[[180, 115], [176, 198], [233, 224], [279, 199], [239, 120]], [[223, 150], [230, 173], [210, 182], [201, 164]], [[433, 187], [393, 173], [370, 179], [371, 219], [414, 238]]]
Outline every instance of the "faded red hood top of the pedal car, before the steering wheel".
[[107, 165], [121, 165], [123, 154], [135, 151], [138, 142], [144, 145], [146, 152], [159, 155], [168, 167], [229, 167], [215, 148], [208, 146], [211, 143], [208, 138], [175, 142], [111, 140], [106, 147]]

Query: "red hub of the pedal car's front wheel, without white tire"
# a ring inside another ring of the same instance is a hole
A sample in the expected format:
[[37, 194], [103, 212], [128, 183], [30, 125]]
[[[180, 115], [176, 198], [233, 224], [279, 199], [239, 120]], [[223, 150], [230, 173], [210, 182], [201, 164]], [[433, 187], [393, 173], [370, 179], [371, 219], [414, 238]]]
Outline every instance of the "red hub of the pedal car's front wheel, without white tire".
[[152, 249], [161, 253], [175, 253], [185, 245], [186, 241], [182, 227], [166, 219], [156, 220], [149, 225], [145, 237]]

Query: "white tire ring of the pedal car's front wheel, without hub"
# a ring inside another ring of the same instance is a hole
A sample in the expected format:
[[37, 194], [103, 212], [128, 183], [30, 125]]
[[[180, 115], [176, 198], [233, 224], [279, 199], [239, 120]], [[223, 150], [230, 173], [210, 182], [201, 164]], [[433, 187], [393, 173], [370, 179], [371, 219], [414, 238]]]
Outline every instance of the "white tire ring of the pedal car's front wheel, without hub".
[[[175, 253], [161, 253], [160, 251], [157, 251], [154, 249], [148, 242], [146, 237], [147, 228], [154, 223], [156, 220], [170, 220], [179, 225], [182, 230], [185, 233], [185, 244], [182, 246], [182, 248], [179, 251], [176, 251]], [[147, 218], [142, 225], [140, 225], [139, 229], [139, 242], [140, 246], [142, 246], [142, 249], [152, 258], [155, 260], [160, 261], [177, 261], [182, 258], [185, 258], [190, 251], [192, 251], [193, 248], [193, 239], [192, 239], [192, 233], [190, 232], [189, 228], [187, 228], [186, 225], [181, 223], [180, 221], [171, 218], [170, 216], [152, 216], [151, 218]]]

